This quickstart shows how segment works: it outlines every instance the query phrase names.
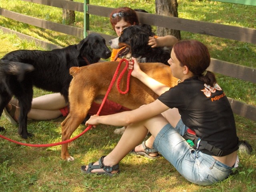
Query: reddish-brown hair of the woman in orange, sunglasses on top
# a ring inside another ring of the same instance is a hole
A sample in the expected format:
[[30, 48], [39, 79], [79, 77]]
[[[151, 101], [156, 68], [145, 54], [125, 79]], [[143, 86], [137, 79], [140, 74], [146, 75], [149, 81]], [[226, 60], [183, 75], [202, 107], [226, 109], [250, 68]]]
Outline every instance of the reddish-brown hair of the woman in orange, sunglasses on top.
[[[120, 17], [119, 15], [117, 15], [115, 18], [112, 18], [112, 15], [115, 13], [128, 13], [128, 15], [122, 16]], [[138, 20], [138, 16], [136, 14], [136, 12], [128, 7], [121, 7], [121, 8], [117, 8], [114, 9], [111, 13], [110, 13], [110, 23], [112, 25], [112, 28], [115, 31], [115, 25], [117, 22], [120, 22], [121, 20], [124, 20], [125, 22], [130, 23], [131, 25], [134, 24], [138, 25], [139, 24], [139, 20]]]

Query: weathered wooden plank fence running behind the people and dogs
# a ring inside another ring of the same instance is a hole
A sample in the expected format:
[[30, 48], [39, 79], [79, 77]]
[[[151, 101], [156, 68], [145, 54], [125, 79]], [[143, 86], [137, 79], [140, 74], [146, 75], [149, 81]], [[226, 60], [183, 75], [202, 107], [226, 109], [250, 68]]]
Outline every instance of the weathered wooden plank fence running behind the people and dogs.
[[[30, 16], [25, 16], [16, 12], [4, 10], [2, 8], [0, 8], [0, 15], [5, 16], [6, 18], [19, 21], [19, 22], [34, 25], [37, 27], [42, 27], [45, 29], [50, 29], [53, 31], [58, 31], [68, 35], [74, 35], [80, 38], [83, 38], [86, 33], [88, 34], [95, 33], [93, 31], [88, 30], [89, 15], [109, 17], [110, 12], [113, 10], [113, 8], [83, 4], [79, 2], [72, 2], [72, 1], [66, 1], [66, 0], [23, 0], [23, 1], [43, 4], [47, 6], [54, 6], [58, 8], [64, 8], [68, 10], [74, 10], [78, 12], [84, 12], [84, 10], [86, 10], [86, 14], [84, 15], [84, 18], [87, 25], [85, 27], [85, 30], [79, 27], [57, 24], [54, 22], [33, 18]], [[223, 25], [223, 24], [214, 24], [209, 22], [200, 22], [195, 20], [174, 18], [169, 16], [160, 16], [160, 15], [142, 13], [142, 12], [138, 12], [138, 16], [139, 16], [140, 22], [143, 24], [166, 27], [166, 28], [176, 29], [180, 31], [189, 31], [192, 33], [211, 35], [215, 37], [222, 37], [226, 39], [232, 39], [232, 40], [256, 44], [256, 29], [251, 29], [246, 27], [236, 27], [236, 26]], [[32, 37], [29, 37], [28, 35], [17, 33], [5, 27], [0, 26], [0, 29], [2, 29], [4, 32], [16, 33], [21, 38], [34, 39]], [[99, 34], [106, 39], [107, 43], [110, 39], [115, 38], [115, 36], [112, 36], [112, 35], [106, 35], [102, 33], [99, 33]], [[37, 43], [40, 43], [44, 47], [47, 47], [48, 49], [59, 48], [56, 45], [42, 42], [40, 40], [35, 40], [35, 41]], [[219, 74], [223, 74], [226, 76], [239, 78], [248, 82], [256, 83], [256, 69], [252, 67], [237, 65], [234, 63], [229, 63], [226, 61], [221, 61], [221, 60], [212, 58], [211, 65], [208, 68], [208, 70], [219, 73]], [[242, 117], [256, 121], [256, 107], [240, 102], [238, 100], [234, 100], [232, 98], [228, 98], [228, 99], [232, 106], [232, 110], [235, 114], [238, 114]]]

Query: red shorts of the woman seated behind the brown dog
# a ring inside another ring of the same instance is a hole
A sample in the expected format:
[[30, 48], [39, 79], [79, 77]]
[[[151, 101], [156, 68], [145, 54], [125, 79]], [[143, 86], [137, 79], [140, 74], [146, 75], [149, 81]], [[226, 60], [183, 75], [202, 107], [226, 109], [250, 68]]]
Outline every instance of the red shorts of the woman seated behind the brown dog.
[[[93, 102], [88, 114], [90, 116], [96, 115], [98, 113], [100, 105], [101, 104], [97, 104], [97, 103]], [[106, 100], [104, 106], [102, 107], [100, 115], [106, 116], [106, 115], [116, 114], [116, 113], [120, 113], [120, 112], [124, 112], [124, 111], [130, 111], [130, 109], [125, 108], [125, 107], [121, 106], [120, 104], [117, 104], [110, 100]], [[69, 107], [67, 106], [67, 107], [60, 109], [60, 112], [62, 113], [63, 117], [68, 116]]]

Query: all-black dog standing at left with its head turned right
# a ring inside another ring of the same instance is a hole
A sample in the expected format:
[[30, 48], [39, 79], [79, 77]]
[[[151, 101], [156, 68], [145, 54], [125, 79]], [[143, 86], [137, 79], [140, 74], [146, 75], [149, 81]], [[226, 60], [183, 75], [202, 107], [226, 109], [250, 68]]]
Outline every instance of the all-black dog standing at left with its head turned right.
[[92, 33], [77, 45], [52, 51], [18, 50], [0, 59], [0, 115], [14, 95], [20, 106], [18, 133], [26, 139], [27, 114], [31, 108], [33, 86], [60, 92], [68, 101], [72, 80], [70, 67], [82, 67], [107, 59], [111, 51], [105, 39]]

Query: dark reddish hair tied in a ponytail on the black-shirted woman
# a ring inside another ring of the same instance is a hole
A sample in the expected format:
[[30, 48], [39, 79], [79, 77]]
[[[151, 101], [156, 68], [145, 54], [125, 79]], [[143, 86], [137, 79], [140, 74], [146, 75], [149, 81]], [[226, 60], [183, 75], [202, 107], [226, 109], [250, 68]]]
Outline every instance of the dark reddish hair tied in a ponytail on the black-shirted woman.
[[186, 65], [195, 76], [198, 76], [199, 80], [210, 86], [216, 83], [215, 75], [212, 72], [207, 71], [203, 75], [211, 61], [210, 53], [203, 43], [196, 40], [182, 40], [176, 43], [173, 49], [181, 65]]

